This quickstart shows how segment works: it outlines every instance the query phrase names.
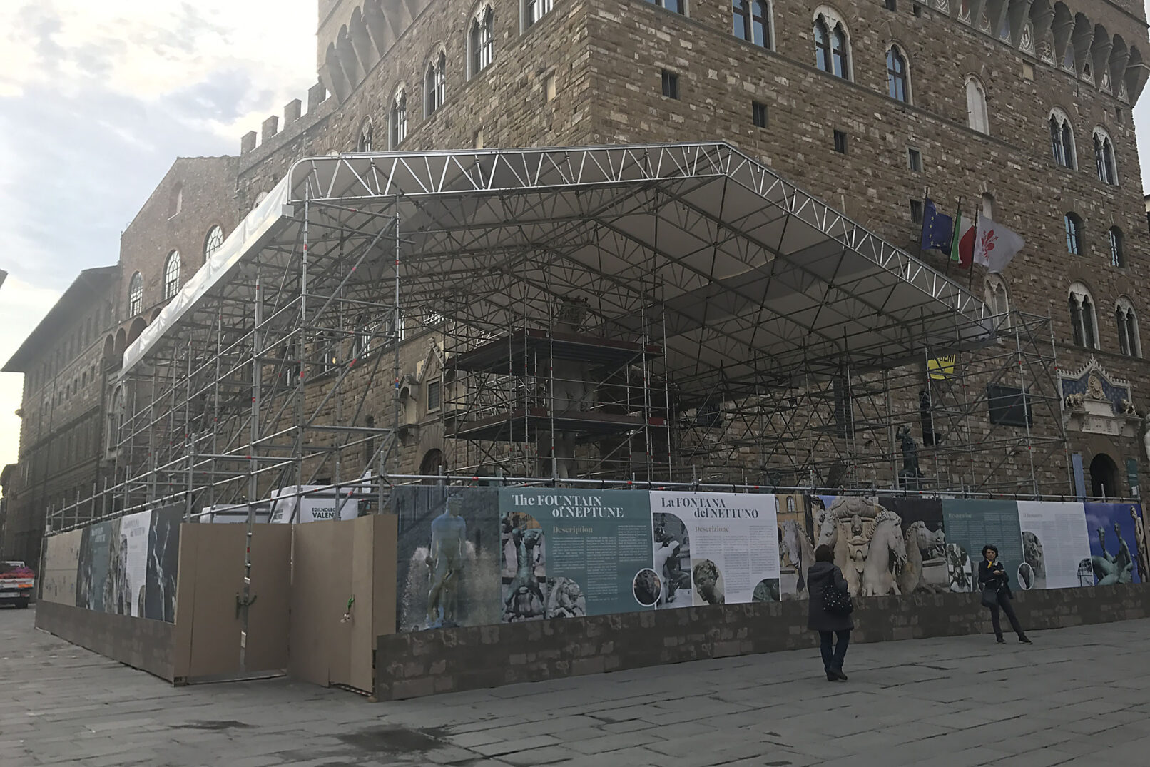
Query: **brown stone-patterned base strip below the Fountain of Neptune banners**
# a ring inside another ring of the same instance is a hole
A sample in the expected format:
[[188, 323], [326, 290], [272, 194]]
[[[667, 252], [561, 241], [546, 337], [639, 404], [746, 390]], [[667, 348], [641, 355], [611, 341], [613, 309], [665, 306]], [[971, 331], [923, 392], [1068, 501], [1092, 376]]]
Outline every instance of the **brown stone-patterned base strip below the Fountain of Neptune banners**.
[[[857, 600], [852, 642], [990, 634], [977, 593]], [[689, 607], [378, 638], [378, 700], [601, 674], [705, 658], [818, 645], [806, 601]], [[1150, 588], [1057, 589], [1017, 595], [1026, 630], [1150, 618]], [[1003, 618], [1006, 630], [1009, 623]], [[818, 672], [812, 660], [812, 673]]]

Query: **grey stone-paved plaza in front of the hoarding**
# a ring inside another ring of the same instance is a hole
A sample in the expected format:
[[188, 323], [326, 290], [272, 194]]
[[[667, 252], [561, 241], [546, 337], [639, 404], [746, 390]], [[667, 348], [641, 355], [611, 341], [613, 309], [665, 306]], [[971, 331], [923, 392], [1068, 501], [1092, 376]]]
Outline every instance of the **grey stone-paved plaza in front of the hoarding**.
[[0, 765], [1150, 764], [1150, 621], [856, 644], [373, 704], [289, 680], [171, 688], [0, 611]]

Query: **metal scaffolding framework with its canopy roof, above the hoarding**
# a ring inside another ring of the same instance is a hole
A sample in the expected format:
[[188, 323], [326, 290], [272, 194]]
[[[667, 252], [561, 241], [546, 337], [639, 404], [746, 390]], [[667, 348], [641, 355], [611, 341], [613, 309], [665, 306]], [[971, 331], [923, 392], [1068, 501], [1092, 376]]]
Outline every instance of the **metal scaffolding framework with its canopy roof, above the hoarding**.
[[[325, 156], [294, 163], [128, 348], [116, 482], [49, 526], [172, 503], [192, 516], [310, 484], [370, 489], [383, 503], [400, 473], [405, 332], [442, 336], [450, 359], [516, 330], [553, 336], [572, 300], [586, 306], [583, 335], [658, 347], [600, 371], [624, 391], [613, 402], [644, 420], [607, 450], [624, 462], [584, 444], [583, 476], [628, 478], [642, 450], [636, 474], [649, 482], [756, 471], [764, 483], [772, 471], [807, 474], [796, 484], [895, 482], [892, 425], [919, 411], [899, 411], [892, 392], [914, 385], [887, 386], [884, 421], [865, 402], [875, 381], [943, 353], [969, 373], [931, 381], [935, 417], [968, 425], [945, 432], [951, 458], [937, 476], [977, 453], [977, 398], [967, 391], [960, 407], [942, 388], [983, 376], [973, 360], [989, 358], [976, 350], [1000, 348], [989, 309], [727, 144]], [[506, 376], [481, 377], [460, 376], [446, 432], [492, 398], [531, 391], [500, 394]], [[536, 377], [554, 390], [553, 370]], [[881, 448], [859, 448], [857, 424], [828, 431], [821, 405], [796, 415], [796, 397], [828, 396], [846, 398], [851, 421], [882, 421]], [[715, 409], [744, 425], [712, 439]], [[662, 437], [651, 430], [659, 413]], [[1030, 444], [1065, 444], [1061, 421], [1051, 428]], [[792, 434], [815, 446], [788, 453]], [[504, 438], [457, 443], [453, 467], [540, 474], [537, 440], [519, 453]], [[554, 462], [550, 474], [559, 478]], [[976, 474], [968, 484], [989, 486]]]

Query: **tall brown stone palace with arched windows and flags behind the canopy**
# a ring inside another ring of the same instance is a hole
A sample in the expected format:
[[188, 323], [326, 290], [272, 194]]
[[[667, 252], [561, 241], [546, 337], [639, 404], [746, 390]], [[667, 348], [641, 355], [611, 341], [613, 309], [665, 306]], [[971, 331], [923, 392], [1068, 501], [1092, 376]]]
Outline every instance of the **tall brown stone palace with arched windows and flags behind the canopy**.
[[[998, 309], [1049, 315], [1084, 490], [1128, 496], [1150, 470], [1130, 117], [1148, 49], [1129, 0], [320, 0], [306, 110], [268, 117], [238, 158], [177, 161], [125, 232], [101, 338], [115, 360], [164, 302], [169, 253], [186, 279], [208, 232], [230, 232], [299, 158], [722, 139], [912, 253], [927, 195], [1019, 232], [1000, 277], [920, 255]], [[412, 330], [404, 375], [420, 383], [439, 353], [432, 329]], [[41, 419], [32, 376], [22, 468]], [[390, 420], [390, 382], [368, 401]], [[435, 413], [402, 419], [402, 470], [447, 460]]]

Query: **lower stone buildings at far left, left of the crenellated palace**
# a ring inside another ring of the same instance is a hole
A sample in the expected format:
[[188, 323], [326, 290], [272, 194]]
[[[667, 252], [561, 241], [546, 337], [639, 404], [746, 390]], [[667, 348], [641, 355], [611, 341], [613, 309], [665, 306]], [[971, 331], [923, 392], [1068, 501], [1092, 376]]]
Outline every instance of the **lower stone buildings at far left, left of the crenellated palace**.
[[[235, 158], [177, 159], [121, 236], [118, 263], [80, 273], [5, 366], [24, 374], [20, 459], [0, 520], [5, 557], [38, 562], [49, 509], [122, 476], [109, 434], [130, 407], [117, 385], [124, 348], [235, 229]], [[99, 500], [75, 513], [108, 511]]]

